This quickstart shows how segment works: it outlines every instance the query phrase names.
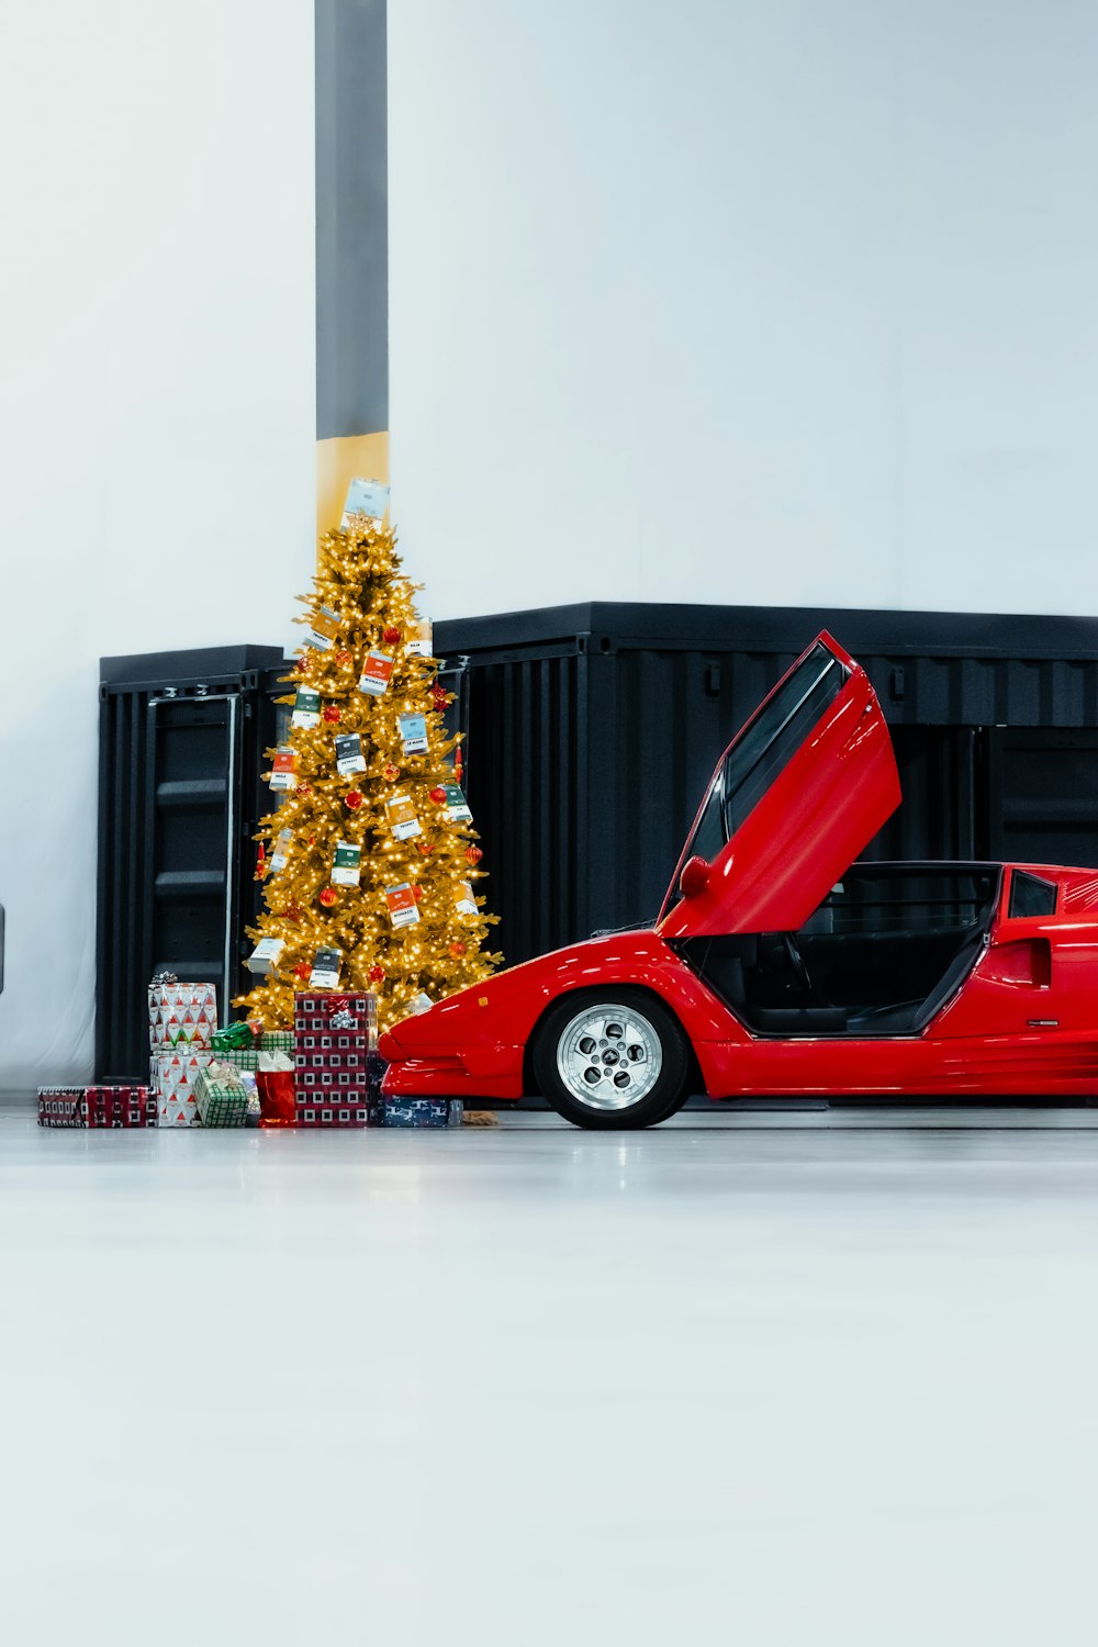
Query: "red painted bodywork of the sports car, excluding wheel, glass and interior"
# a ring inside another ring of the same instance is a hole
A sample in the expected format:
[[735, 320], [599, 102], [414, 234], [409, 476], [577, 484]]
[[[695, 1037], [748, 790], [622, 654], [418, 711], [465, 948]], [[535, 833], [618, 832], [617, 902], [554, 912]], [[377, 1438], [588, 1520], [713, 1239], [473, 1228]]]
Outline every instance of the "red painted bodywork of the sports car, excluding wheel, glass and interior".
[[[1003, 866], [994, 914], [973, 929], [979, 947], [968, 970], [961, 957], [961, 977], [919, 1033], [756, 1034], [688, 965], [683, 939], [798, 931], [899, 800], [887, 726], [864, 672], [828, 636], [817, 646], [841, 662], [841, 688], [713, 855], [701, 889], [675, 899], [713, 784], [654, 931], [542, 955], [395, 1024], [380, 1041], [387, 1094], [520, 1099], [543, 1015], [579, 990], [612, 1000], [616, 985], [650, 990], [675, 1013], [713, 1099], [1098, 1094], [1095, 870]], [[724, 782], [729, 756], [756, 721], [729, 744], [714, 782]], [[1055, 912], [1009, 914], [1022, 871], [1047, 883]]]

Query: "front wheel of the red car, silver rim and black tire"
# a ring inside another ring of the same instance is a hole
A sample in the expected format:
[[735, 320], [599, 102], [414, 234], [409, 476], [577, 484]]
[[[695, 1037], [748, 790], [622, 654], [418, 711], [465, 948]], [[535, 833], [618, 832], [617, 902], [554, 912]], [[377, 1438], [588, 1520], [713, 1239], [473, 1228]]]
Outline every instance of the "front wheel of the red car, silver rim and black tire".
[[[606, 1019], [603, 1028], [611, 1034], [584, 1033], [583, 1019], [598, 1026], [599, 1015]], [[584, 1043], [591, 1043], [586, 1052], [579, 1051]], [[655, 1079], [649, 1079], [649, 1069], [657, 1062], [657, 1047], [658, 1072]], [[634, 1061], [634, 1054], [644, 1056]], [[573, 1071], [575, 1087], [584, 1080], [581, 1066], [589, 1069], [591, 1087], [584, 1085], [583, 1090], [591, 1090], [591, 1102], [584, 1102], [568, 1085], [558, 1057]], [[547, 1013], [533, 1043], [533, 1072], [543, 1097], [566, 1122], [599, 1131], [655, 1127], [667, 1120], [686, 1099], [688, 1069], [690, 1044], [682, 1024], [647, 990], [609, 985], [604, 990], [565, 995]], [[630, 1079], [642, 1089], [634, 1103], [629, 1102]]]

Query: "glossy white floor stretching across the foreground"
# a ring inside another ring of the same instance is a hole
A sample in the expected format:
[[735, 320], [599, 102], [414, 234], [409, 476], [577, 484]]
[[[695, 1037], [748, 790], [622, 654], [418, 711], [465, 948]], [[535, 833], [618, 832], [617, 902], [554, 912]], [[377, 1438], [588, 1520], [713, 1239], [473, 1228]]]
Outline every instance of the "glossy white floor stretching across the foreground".
[[1093, 1647], [1096, 1120], [2, 1115], [0, 1640]]

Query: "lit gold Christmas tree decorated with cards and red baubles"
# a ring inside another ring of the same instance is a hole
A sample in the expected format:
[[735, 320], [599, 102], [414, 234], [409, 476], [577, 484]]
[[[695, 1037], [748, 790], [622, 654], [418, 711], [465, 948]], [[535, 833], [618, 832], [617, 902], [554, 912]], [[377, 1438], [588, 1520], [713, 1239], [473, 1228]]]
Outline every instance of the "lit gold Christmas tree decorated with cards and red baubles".
[[[486, 954], [481, 848], [461, 740], [395, 535], [364, 514], [321, 540], [286, 743], [268, 749], [278, 809], [260, 822], [267, 912], [249, 935], [270, 967], [237, 1005], [293, 1023], [318, 954], [337, 988], [377, 995], [384, 1029], [499, 965]], [[265, 942], [263, 942], [265, 940]], [[337, 952], [324, 955], [323, 952]]]

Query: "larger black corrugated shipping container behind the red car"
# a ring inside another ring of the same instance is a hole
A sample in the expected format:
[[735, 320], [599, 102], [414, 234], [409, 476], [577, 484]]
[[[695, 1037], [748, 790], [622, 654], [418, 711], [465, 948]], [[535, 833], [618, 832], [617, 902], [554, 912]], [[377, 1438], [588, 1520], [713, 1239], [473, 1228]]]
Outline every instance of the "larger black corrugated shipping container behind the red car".
[[716, 759], [820, 632], [866, 667], [904, 805], [874, 858], [1098, 865], [1098, 621], [560, 606], [436, 623], [468, 657], [469, 804], [514, 963], [660, 907]]

